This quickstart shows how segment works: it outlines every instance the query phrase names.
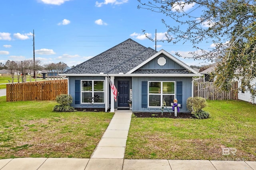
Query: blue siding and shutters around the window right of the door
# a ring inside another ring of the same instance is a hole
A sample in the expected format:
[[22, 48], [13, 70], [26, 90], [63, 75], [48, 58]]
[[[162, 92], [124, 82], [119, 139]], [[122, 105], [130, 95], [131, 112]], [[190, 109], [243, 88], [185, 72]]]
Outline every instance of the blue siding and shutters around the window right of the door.
[[133, 77], [132, 111], [159, 111], [160, 107], [148, 107], [148, 81], [174, 81], [175, 98], [178, 99], [178, 103], [182, 104], [180, 111], [189, 112], [186, 108], [186, 100], [192, 95], [192, 77]]

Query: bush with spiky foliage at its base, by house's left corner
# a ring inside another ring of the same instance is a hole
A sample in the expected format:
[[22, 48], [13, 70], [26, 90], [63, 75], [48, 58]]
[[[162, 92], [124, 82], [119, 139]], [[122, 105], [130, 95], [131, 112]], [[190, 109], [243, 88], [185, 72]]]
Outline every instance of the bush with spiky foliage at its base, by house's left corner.
[[59, 105], [56, 105], [52, 108], [52, 111], [58, 111], [58, 112], [72, 112], [76, 111], [74, 107], [70, 106], [72, 103], [72, 96], [68, 94], [60, 94], [56, 97], [56, 102]]

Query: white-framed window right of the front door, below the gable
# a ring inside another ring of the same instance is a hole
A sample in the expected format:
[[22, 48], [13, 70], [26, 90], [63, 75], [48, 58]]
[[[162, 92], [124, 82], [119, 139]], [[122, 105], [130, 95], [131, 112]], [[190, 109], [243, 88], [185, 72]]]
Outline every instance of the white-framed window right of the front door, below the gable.
[[175, 96], [175, 82], [149, 82], [149, 107], [161, 107], [163, 100], [171, 106]]

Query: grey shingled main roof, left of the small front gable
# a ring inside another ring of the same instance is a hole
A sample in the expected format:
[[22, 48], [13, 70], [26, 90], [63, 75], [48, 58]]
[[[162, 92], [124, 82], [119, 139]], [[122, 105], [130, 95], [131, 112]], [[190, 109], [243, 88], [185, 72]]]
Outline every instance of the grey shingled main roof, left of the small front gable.
[[144, 47], [132, 39], [126, 41], [96, 55], [81, 63], [64, 74], [124, 74], [140, 63], [146, 61], [157, 51], [150, 47]]

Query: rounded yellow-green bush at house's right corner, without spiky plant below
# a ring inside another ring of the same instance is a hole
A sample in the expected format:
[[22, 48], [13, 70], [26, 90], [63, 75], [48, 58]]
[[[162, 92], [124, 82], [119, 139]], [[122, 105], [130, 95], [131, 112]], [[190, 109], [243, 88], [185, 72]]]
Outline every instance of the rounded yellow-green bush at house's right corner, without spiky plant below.
[[187, 108], [191, 111], [191, 113], [199, 113], [202, 108], [207, 106], [207, 102], [205, 98], [195, 97], [187, 99]]

